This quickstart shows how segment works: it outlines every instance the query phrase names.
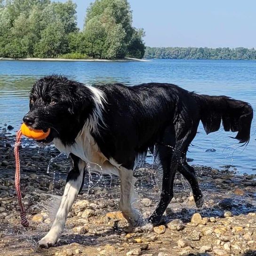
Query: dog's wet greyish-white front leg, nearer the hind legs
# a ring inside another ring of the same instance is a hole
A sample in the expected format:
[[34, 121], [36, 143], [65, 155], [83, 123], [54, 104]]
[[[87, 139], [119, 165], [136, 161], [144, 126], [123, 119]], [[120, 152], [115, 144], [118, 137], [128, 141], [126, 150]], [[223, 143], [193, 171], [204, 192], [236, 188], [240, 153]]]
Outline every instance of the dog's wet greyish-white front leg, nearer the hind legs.
[[120, 167], [119, 169], [121, 195], [119, 208], [128, 222], [136, 226], [140, 222], [139, 210], [132, 207], [132, 201], [135, 199], [134, 184], [136, 179], [133, 177], [133, 171]]

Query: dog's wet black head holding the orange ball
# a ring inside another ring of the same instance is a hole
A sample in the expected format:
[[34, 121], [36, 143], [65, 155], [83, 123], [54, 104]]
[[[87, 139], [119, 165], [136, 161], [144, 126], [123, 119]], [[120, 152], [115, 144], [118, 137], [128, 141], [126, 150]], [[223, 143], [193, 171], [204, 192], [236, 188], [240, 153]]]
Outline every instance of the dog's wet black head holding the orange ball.
[[51, 129], [49, 136], [40, 142], [60, 138], [64, 144], [72, 144], [92, 111], [93, 102], [90, 90], [84, 85], [52, 75], [35, 82], [29, 107], [24, 123], [33, 129]]

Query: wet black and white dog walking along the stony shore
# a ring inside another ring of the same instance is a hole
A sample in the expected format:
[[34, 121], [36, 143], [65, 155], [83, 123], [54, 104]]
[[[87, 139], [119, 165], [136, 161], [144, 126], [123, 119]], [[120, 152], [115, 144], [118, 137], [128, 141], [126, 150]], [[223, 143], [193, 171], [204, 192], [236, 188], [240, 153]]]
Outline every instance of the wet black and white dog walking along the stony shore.
[[206, 133], [217, 131], [222, 121], [225, 131], [238, 132], [235, 138], [246, 143], [252, 118], [252, 107], [246, 102], [198, 95], [173, 84], [89, 87], [56, 75], [36, 81], [24, 123], [34, 129], [51, 128], [41, 142], [53, 141], [59, 151], [73, 160], [56, 218], [48, 234], [39, 241], [40, 246], [53, 246], [60, 237], [83, 186], [88, 163], [96, 170], [120, 176], [120, 210], [130, 224], [139, 224], [140, 214], [131, 202], [133, 170], [149, 148], [155, 149], [163, 169], [160, 202], [149, 221], [160, 222], [173, 197], [176, 171], [189, 181], [200, 207], [202, 193], [194, 169], [186, 162], [186, 152], [200, 120]]

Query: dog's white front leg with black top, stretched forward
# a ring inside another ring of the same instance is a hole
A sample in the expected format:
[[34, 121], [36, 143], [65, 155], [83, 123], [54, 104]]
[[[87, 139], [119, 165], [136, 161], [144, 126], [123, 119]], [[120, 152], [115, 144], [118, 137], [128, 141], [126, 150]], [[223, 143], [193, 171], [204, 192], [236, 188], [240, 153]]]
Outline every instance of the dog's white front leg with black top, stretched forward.
[[60, 238], [72, 204], [82, 189], [86, 163], [73, 154], [71, 154], [71, 157], [73, 160], [73, 168], [67, 176], [67, 182], [59, 209], [50, 231], [39, 241], [40, 247], [49, 248]]

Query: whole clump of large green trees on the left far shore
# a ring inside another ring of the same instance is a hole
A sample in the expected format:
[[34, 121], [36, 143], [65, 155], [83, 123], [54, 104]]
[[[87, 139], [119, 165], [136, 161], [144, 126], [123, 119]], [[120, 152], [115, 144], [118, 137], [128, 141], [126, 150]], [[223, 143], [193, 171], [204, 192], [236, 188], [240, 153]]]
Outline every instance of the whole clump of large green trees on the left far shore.
[[96, 0], [82, 31], [72, 0], [0, 0], [0, 57], [142, 58], [143, 36], [127, 0]]

